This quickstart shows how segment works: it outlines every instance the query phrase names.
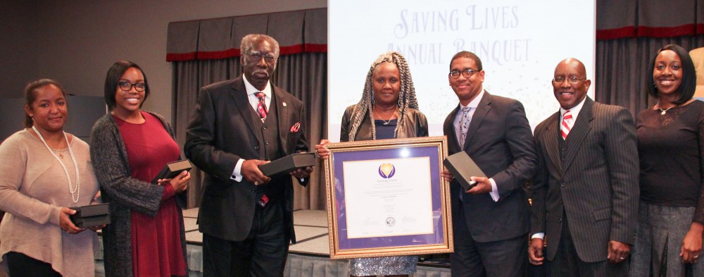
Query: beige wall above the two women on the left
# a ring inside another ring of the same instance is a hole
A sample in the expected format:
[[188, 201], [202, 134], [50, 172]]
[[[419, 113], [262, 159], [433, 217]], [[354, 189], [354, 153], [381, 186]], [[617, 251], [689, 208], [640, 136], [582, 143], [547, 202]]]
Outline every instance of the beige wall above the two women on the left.
[[22, 97], [38, 78], [101, 96], [108, 68], [126, 59], [149, 78], [144, 109], [170, 118], [168, 23], [325, 7], [327, 0], [0, 1], [0, 97]]

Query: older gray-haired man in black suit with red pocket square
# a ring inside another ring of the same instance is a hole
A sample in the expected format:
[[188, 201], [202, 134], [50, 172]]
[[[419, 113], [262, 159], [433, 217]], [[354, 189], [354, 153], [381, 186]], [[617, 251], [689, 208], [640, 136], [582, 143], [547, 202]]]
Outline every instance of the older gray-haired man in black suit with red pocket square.
[[[291, 176], [264, 176], [260, 164], [308, 151], [303, 103], [269, 82], [279, 44], [246, 35], [244, 75], [201, 88], [184, 152], [206, 172], [198, 214], [203, 276], [282, 276], [293, 226]], [[263, 93], [263, 94], [262, 94]]]

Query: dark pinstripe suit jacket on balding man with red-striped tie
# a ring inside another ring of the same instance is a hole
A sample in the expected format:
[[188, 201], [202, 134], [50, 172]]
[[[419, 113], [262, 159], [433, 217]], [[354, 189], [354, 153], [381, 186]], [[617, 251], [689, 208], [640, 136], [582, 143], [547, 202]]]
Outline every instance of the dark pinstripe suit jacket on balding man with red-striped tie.
[[548, 260], [554, 259], [564, 213], [579, 259], [605, 261], [609, 240], [632, 245], [635, 239], [640, 191], [633, 116], [587, 97], [562, 156], [560, 121], [558, 111], [535, 128], [532, 233], [545, 233]]

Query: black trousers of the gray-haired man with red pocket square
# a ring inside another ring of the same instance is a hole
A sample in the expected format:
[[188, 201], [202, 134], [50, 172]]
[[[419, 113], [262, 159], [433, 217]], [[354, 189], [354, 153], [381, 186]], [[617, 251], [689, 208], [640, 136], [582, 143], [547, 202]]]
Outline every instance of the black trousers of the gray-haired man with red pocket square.
[[289, 252], [283, 203], [257, 205], [249, 235], [242, 241], [203, 234], [203, 276], [282, 276]]

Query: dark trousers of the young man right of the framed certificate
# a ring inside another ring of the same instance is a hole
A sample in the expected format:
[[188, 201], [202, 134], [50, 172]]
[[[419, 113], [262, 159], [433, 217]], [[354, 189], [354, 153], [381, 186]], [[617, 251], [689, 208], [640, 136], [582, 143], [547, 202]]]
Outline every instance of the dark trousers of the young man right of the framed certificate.
[[450, 254], [452, 276], [525, 276], [528, 263], [528, 234], [508, 240], [477, 242], [467, 228], [464, 210], [453, 216], [455, 252]]

